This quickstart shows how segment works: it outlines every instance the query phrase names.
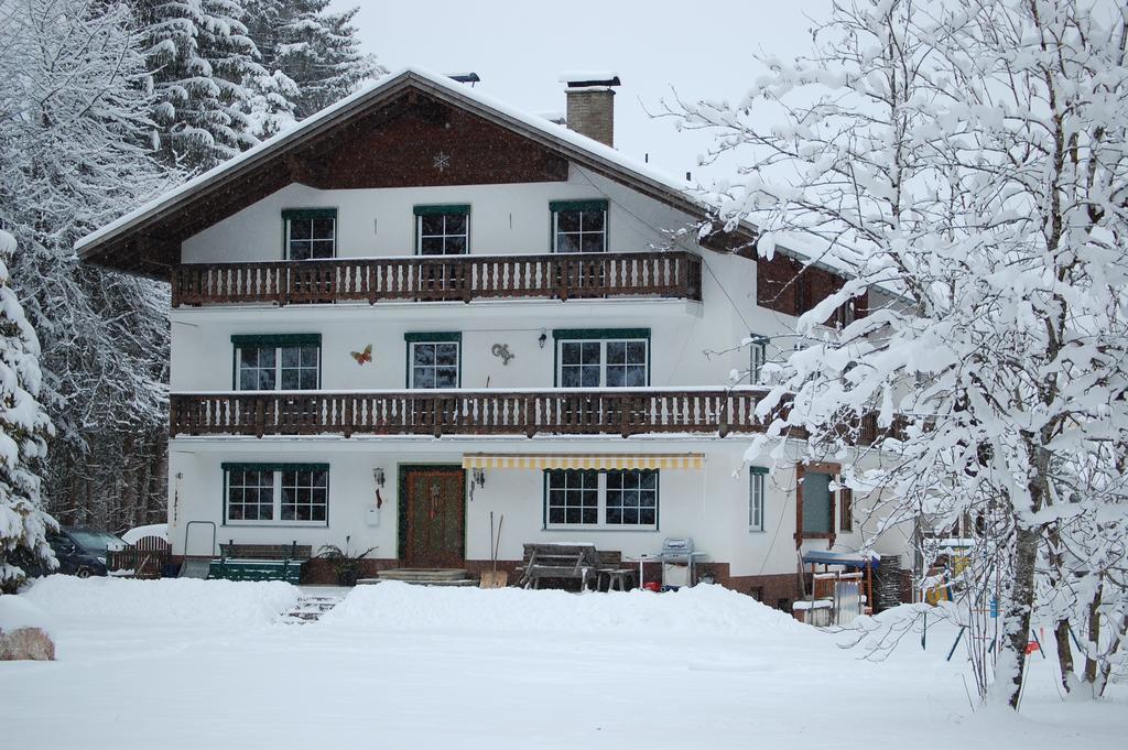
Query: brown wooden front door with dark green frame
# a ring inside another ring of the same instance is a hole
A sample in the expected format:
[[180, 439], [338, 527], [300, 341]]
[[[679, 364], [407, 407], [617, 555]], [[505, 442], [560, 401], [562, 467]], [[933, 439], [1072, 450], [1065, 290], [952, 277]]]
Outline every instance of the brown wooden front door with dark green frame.
[[466, 485], [460, 466], [402, 466], [400, 549], [405, 567], [461, 567]]

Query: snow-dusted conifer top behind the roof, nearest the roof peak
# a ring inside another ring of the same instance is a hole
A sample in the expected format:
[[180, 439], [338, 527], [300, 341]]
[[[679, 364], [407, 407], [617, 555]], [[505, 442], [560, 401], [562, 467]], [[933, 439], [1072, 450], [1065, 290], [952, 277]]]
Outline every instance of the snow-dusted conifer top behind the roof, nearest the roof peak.
[[244, 0], [250, 38], [261, 63], [280, 89], [288, 82], [293, 116], [303, 120], [387, 72], [360, 51], [352, 19], [356, 8], [327, 10], [328, 0]]

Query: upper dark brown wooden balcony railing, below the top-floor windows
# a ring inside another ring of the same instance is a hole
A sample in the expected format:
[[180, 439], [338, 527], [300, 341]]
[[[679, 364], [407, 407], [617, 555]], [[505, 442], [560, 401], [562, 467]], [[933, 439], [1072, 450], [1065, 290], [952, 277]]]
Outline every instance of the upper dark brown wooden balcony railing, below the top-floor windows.
[[173, 270], [173, 307], [414, 300], [643, 297], [700, 300], [693, 253], [574, 253], [190, 263]]

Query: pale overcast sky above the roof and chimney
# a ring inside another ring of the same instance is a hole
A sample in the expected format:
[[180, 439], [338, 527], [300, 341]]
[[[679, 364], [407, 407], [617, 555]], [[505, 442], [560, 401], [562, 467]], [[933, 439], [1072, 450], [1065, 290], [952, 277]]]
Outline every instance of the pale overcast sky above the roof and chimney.
[[332, 7], [358, 5], [364, 50], [385, 67], [474, 71], [483, 91], [528, 112], [563, 114], [564, 71], [617, 72], [616, 147], [640, 160], [649, 153], [671, 176], [693, 171], [694, 182], [707, 182], [697, 157], [708, 138], [678, 133], [671, 120], [646, 111], [659, 111], [672, 91], [738, 99], [760, 72], [752, 55], [805, 51], [810, 18], [823, 16], [829, 0], [333, 0]]

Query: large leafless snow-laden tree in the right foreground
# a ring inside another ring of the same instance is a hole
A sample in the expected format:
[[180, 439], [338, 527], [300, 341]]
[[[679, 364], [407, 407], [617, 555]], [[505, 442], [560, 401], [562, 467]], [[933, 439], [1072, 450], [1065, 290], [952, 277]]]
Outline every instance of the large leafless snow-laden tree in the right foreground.
[[[1017, 707], [1036, 606], [1076, 633], [1105, 618], [1094, 660], [1123, 648], [1128, 8], [860, 0], [814, 41], [763, 60], [734, 106], [679, 109], [743, 155], [723, 221], [756, 222], [761, 256], [803, 241], [854, 276], [764, 368], [760, 413], [792, 408], [752, 451], [802, 427], [854, 489], [883, 488], [883, 523], [969, 519], [964, 612], [1002, 615], [980, 688]], [[826, 326], [866, 289], [866, 317]], [[872, 414], [883, 435], [857, 460], [843, 425]]]

